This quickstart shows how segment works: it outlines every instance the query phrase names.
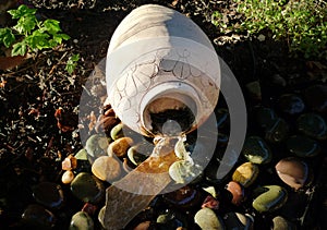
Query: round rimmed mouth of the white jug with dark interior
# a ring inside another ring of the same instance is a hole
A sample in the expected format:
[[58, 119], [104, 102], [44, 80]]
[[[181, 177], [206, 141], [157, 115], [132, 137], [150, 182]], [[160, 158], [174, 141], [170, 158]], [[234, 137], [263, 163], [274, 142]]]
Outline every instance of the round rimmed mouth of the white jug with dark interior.
[[187, 83], [173, 81], [150, 88], [142, 98], [140, 111], [141, 132], [152, 136], [189, 133], [197, 128], [202, 114], [196, 90]]

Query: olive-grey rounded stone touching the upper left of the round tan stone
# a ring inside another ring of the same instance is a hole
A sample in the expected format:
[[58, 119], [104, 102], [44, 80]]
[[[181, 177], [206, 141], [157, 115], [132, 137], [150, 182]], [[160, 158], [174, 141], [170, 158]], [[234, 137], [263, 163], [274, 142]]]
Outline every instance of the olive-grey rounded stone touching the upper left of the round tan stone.
[[110, 140], [101, 134], [94, 134], [85, 143], [87, 158], [90, 164], [100, 156], [107, 156]]

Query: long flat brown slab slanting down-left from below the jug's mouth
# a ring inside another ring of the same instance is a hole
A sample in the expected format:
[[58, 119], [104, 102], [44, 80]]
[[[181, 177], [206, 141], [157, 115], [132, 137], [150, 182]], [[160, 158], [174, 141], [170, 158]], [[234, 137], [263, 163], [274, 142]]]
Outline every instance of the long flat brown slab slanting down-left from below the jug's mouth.
[[[123, 229], [170, 182], [168, 169], [178, 158], [173, 148], [164, 146], [159, 155], [147, 160], [107, 189], [104, 227]], [[165, 152], [165, 153], [162, 153]]]

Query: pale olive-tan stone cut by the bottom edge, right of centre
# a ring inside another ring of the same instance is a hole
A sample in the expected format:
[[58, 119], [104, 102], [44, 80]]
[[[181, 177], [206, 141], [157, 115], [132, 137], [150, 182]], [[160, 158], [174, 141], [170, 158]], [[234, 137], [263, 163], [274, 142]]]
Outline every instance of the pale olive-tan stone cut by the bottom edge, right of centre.
[[223, 230], [225, 226], [221, 219], [210, 208], [199, 209], [195, 216], [194, 221], [203, 230]]

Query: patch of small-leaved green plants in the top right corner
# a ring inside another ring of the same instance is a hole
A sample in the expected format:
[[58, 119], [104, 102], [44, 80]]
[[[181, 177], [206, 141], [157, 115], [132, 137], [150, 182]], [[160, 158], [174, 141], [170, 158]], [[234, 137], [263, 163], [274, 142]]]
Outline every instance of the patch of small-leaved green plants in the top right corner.
[[[276, 40], [286, 39], [291, 52], [320, 57], [327, 46], [327, 4], [325, 0], [234, 0], [242, 23], [231, 25], [234, 32], [250, 35], [270, 31]], [[220, 26], [219, 13], [213, 23]], [[326, 55], [326, 52], [325, 52]]]

